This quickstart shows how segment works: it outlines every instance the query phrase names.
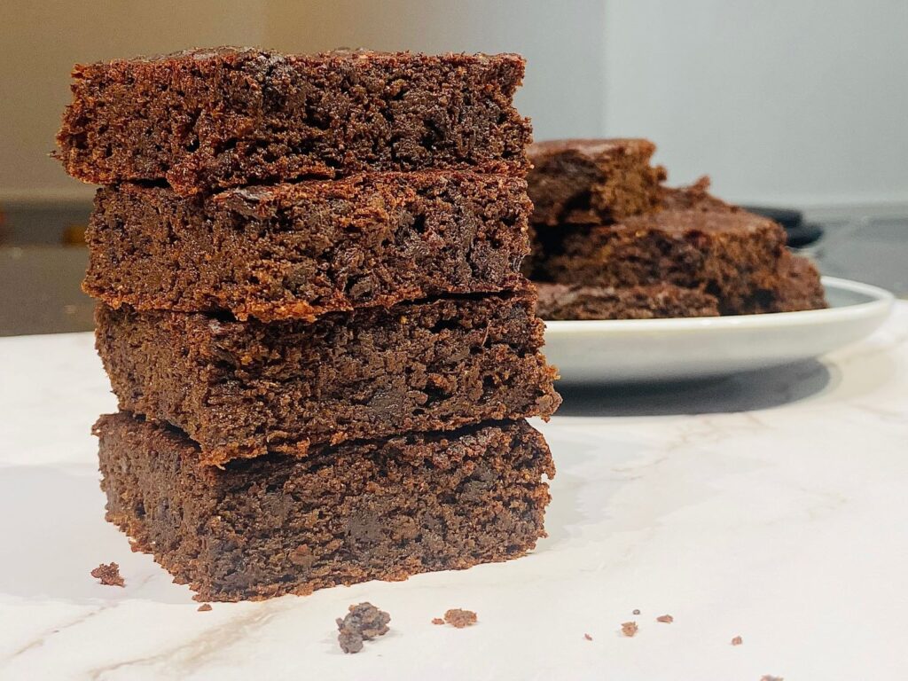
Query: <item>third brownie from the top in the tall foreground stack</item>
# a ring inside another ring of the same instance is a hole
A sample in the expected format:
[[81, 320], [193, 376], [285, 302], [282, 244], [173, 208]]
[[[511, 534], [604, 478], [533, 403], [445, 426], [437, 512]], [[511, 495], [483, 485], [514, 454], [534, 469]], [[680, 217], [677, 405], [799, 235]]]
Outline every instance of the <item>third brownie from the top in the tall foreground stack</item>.
[[548, 417], [555, 370], [528, 291], [231, 321], [98, 308], [97, 348], [120, 408], [167, 421], [222, 464], [265, 449]]

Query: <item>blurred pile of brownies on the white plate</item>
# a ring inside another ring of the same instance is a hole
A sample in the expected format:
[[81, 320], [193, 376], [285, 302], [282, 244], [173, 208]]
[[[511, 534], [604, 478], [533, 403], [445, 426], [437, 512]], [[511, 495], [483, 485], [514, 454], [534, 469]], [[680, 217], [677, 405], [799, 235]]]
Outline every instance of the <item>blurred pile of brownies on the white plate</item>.
[[533, 254], [525, 271], [551, 320], [755, 314], [825, 307], [814, 266], [776, 222], [666, 187], [641, 139], [530, 147]]

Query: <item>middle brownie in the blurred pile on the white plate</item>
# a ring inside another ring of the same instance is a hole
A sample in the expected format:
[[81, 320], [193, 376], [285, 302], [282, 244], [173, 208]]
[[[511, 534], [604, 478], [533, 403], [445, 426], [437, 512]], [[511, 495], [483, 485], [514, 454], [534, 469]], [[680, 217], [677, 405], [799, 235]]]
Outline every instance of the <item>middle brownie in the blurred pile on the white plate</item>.
[[613, 225], [565, 226], [543, 266], [547, 281], [634, 287], [670, 283], [702, 289], [722, 314], [750, 311], [778, 285], [785, 231], [739, 209], [662, 210]]

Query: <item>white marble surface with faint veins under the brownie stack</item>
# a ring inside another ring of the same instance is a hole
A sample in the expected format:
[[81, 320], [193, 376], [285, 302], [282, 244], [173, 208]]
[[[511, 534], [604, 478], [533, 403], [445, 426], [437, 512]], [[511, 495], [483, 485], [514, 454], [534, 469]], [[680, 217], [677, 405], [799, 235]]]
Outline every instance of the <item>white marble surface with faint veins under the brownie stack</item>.
[[[211, 612], [102, 519], [107, 390], [88, 334], [0, 340], [0, 678], [908, 677], [908, 303], [819, 362], [566, 390], [527, 558]], [[111, 560], [125, 588], [89, 576]], [[392, 628], [344, 656], [362, 600]]]

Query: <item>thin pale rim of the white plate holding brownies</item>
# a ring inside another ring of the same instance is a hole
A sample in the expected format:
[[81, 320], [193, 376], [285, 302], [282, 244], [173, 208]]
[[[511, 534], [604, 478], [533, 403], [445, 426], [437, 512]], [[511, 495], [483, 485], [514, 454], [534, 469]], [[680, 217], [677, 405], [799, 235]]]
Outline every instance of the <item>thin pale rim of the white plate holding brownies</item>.
[[842, 307], [824, 308], [823, 310], [803, 310], [796, 312], [767, 312], [765, 314], [741, 314], [725, 317], [676, 317], [656, 320], [563, 320], [546, 321], [546, 335], [565, 335], [574, 333], [638, 333], [641, 331], [706, 331], [753, 329], [769, 326], [810, 326], [824, 321], [856, 321], [869, 319], [877, 315], [884, 316], [892, 311], [895, 295], [879, 286], [862, 281], [852, 281], [839, 277], [821, 277], [824, 289], [837, 289], [861, 293], [873, 300], [858, 302]]

